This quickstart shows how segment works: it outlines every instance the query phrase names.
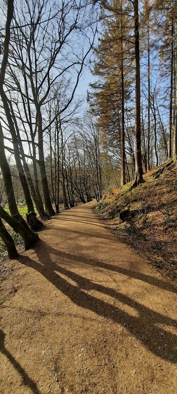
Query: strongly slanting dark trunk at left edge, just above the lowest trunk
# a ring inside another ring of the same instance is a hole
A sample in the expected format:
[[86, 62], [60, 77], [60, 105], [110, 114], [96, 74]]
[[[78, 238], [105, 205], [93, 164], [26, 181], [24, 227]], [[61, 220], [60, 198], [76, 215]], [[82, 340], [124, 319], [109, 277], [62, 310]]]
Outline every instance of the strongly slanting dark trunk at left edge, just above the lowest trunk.
[[33, 232], [30, 229], [30, 227], [27, 225], [27, 223], [26, 225], [29, 227], [31, 234], [29, 234], [26, 228], [21, 223], [19, 223], [16, 219], [14, 219], [14, 217], [7, 214], [7, 212], [2, 208], [1, 205], [0, 205], [0, 217], [2, 217], [2, 219], [4, 219], [6, 223], [8, 223], [8, 225], [11, 226], [15, 232], [18, 232], [18, 234], [22, 236], [24, 240], [25, 250], [33, 247], [35, 243], [39, 240], [38, 234]]

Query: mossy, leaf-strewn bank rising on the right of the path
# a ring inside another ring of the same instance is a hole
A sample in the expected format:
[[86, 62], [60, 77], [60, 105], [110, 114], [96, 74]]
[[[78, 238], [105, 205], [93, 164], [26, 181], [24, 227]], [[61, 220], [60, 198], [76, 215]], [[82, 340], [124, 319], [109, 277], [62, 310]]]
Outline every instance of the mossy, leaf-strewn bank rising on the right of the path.
[[130, 184], [104, 195], [96, 209], [123, 241], [153, 265], [177, 277], [177, 164], [167, 162], [144, 175], [145, 183]]

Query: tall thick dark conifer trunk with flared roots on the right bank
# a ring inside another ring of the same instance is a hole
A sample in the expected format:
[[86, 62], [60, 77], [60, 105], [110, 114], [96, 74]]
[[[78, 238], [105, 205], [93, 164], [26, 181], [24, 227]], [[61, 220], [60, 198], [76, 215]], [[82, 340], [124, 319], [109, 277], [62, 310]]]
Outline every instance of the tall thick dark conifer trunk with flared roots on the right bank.
[[134, 0], [134, 50], [135, 50], [135, 180], [133, 187], [144, 182], [141, 159], [141, 120], [140, 120], [140, 50], [139, 50], [139, 21], [138, 0]]

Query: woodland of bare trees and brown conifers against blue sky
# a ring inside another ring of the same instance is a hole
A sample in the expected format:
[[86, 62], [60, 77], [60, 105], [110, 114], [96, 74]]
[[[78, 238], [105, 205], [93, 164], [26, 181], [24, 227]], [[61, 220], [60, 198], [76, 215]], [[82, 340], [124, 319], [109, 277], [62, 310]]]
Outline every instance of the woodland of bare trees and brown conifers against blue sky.
[[4, 223], [26, 249], [39, 239], [19, 202], [45, 221], [176, 160], [177, 11], [148, 0], [9, 0], [1, 10], [0, 235], [15, 257]]

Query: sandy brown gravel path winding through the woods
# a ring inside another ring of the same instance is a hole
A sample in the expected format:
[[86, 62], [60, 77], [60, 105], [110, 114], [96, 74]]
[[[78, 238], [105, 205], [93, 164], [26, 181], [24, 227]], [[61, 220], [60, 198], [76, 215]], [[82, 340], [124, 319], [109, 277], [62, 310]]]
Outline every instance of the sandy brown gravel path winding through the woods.
[[177, 393], [174, 283], [105, 229], [94, 205], [54, 217], [10, 263], [1, 393]]

